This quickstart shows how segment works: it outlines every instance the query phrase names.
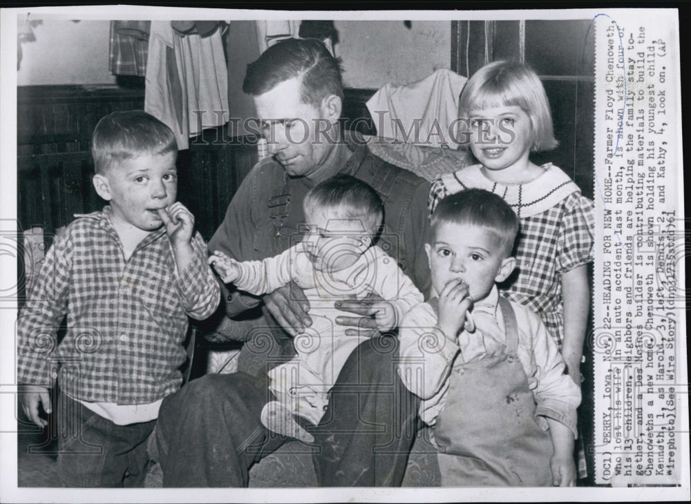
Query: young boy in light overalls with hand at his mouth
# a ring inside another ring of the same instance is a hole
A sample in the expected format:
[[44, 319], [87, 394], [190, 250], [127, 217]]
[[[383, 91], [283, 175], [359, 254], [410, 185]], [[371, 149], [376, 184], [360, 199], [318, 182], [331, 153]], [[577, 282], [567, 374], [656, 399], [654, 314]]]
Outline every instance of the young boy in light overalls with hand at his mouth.
[[442, 485], [574, 485], [580, 390], [540, 317], [495, 285], [514, 269], [518, 217], [470, 189], [430, 226], [433, 299], [401, 323], [399, 374], [433, 427]]

